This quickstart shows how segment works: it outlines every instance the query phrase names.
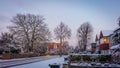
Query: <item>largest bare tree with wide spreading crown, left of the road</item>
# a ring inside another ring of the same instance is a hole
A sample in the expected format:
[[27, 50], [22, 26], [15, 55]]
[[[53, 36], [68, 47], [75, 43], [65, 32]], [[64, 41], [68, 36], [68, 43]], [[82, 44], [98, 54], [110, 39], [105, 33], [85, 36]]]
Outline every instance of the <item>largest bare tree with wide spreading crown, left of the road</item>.
[[50, 31], [44, 23], [44, 18], [34, 14], [17, 14], [11, 20], [13, 26], [9, 26], [27, 52], [33, 51], [34, 45], [40, 45], [41, 41], [49, 40]]

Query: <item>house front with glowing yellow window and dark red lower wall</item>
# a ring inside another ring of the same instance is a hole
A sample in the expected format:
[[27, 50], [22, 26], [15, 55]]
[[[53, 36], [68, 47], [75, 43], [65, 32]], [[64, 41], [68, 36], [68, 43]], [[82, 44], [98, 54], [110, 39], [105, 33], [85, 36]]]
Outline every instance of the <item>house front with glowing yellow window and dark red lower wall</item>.
[[110, 47], [110, 36], [104, 35], [102, 31], [100, 31], [99, 38], [96, 35], [96, 51], [99, 54], [109, 54]]

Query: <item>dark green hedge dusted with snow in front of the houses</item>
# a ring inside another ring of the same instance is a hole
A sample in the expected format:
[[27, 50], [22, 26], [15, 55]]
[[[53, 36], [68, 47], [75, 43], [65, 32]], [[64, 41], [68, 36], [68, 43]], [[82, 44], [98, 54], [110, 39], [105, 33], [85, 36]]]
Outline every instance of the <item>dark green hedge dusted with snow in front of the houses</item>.
[[112, 56], [111, 55], [70, 55], [71, 62], [92, 62], [92, 61], [99, 61], [99, 62], [111, 62]]

